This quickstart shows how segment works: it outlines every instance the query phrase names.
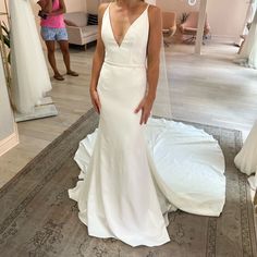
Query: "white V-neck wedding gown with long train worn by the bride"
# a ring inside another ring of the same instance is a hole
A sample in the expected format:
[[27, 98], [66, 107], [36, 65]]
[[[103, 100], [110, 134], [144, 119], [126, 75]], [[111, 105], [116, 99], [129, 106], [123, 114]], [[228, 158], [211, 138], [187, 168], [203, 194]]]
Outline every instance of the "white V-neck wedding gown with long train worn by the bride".
[[224, 205], [222, 151], [212, 136], [164, 119], [139, 125], [146, 90], [148, 9], [118, 45], [109, 8], [102, 19], [105, 62], [98, 81], [98, 128], [79, 143], [81, 168], [69, 196], [89, 235], [137, 246], [170, 241], [168, 212], [219, 216]]

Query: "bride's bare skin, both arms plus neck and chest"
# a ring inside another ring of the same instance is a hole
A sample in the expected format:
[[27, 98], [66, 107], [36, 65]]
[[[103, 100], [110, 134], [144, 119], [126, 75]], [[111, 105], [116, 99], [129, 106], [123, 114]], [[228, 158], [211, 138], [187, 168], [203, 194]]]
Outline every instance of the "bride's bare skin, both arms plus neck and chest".
[[[101, 39], [102, 15], [109, 3], [102, 3], [98, 10], [99, 27], [97, 47], [93, 60], [90, 97], [97, 112], [100, 113], [101, 103], [97, 93], [97, 83], [102, 63], [105, 61], [105, 45]], [[117, 44], [120, 45], [131, 26], [131, 24], [142, 14], [147, 4], [140, 0], [119, 0], [110, 5], [110, 16], [113, 35]], [[156, 89], [159, 78], [159, 56], [161, 49], [161, 12], [160, 9], [150, 5], [148, 9], [149, 16], [149, 37], [147, 46], [147, 83], [148, 89], [145, 97], [135, 107], [135, 113], [142, 112], [140, 124], [146, 124], [156, 98]]]

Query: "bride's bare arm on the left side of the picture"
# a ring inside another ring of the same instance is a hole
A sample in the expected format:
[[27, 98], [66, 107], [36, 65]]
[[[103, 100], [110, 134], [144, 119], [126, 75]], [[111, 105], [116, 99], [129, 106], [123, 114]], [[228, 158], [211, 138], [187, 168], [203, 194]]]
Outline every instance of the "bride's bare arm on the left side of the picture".
[[97, 46], [96, 46], [96, 51], [93, 59], [91, 79], [90, 79], [91, 102], [98, 113], [100, 113], [100, 100], [97, 93], [97, 84], [98, 84], [101, 66], [105, 60], [105, 45], [101, 38], [101, 25], [102, 25], [102, 15], [107, 7], [108, 7], [108, 3], [102, 3], [100, 4], [98, 9]]

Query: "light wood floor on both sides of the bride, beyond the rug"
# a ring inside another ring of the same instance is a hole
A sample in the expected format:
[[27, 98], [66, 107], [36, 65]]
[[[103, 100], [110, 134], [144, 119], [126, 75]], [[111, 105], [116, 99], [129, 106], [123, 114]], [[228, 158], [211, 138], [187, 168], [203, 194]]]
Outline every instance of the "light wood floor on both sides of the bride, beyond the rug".
[[[210, 42], [200, 57], [192, 54], [193, 50], [193, 46], [180, 44], [167, 48], [173, 118], [241, 130], [246, 136], [257, 120], [257, 71], [232, 62], [238, 50], [232, 45]], [[71, 49], [73, 69], [79, 76], [52, 81], [49, 95], [58, 117], [19, 123], [21, 144], [0, 157], [0, 187], [91, 108], [93, 53], [94, 47]], [[57, 60], [64, 73], [60, 52]]]

